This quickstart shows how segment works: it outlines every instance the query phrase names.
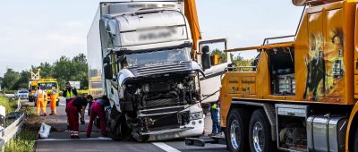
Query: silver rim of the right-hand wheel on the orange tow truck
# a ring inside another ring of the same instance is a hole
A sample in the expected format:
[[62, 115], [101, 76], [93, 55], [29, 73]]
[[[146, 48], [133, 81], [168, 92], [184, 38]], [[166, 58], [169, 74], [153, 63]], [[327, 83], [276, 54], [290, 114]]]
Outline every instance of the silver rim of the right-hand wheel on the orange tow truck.
[[253, 131], [252, 131], [252, 142], [253, 142], [253, 148], [257, 152], [261, 152], [262, 148], [264, 146], [264, 134], [263, 134], [263, 127], [260, 122], [255, 122], [253, 125]]

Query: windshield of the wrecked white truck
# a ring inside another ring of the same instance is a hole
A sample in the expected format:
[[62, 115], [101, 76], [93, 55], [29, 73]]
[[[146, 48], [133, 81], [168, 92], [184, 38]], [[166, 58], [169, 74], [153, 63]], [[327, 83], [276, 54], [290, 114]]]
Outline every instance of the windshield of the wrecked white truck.
[[179, 63], [190, 60], [190, 48], [163, 50], [157, 52], [126, 55], [122, 62], [125, 67], [148, 66], [165, 63]]

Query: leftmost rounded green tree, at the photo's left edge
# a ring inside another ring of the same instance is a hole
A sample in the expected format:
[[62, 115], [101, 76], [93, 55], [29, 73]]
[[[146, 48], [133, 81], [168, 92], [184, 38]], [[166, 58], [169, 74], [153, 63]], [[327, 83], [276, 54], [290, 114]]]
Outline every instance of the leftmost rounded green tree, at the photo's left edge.
[[2, 86], [4, 89], [7, 90], [14, 90], [15, 89], [15, 83], [17, 80], [19, 80], [20, 74], [19, 72], [14, 72], [13, 69], [7, 69], [7, 71], [4, 73], [4, 79]]

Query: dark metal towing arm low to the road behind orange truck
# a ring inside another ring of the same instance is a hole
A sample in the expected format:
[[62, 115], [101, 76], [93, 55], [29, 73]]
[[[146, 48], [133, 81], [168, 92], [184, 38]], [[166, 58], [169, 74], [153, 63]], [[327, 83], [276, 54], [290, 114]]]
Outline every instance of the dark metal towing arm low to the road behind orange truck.
[[225, 136], [200, 136], [199, 138], [186, 138], [186, 146], [205, 147], [205, 144], [222, 144], [226, 145]]

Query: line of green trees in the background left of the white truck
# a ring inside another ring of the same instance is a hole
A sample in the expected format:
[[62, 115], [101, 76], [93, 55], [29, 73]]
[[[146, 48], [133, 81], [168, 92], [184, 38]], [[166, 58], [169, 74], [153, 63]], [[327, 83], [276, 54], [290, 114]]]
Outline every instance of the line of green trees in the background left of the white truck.
[[[72, 58], [63, 55], [55, 63], [40, 63], [31, 67], [41, 69], [39, 75], [43, 79], [57, 79], [61, 89], [64, 89], [68, 80], [80, 81], [81, 89], [88, 89], [88, 63], [84, 54]], [[15, 72], [9, 68], [4, 77], [0, 77], [0, 84], [4, 90], [28, 89], [30, 76], [30, 69]]]

